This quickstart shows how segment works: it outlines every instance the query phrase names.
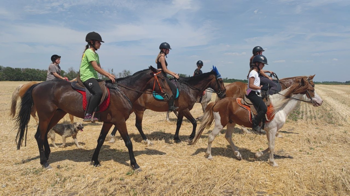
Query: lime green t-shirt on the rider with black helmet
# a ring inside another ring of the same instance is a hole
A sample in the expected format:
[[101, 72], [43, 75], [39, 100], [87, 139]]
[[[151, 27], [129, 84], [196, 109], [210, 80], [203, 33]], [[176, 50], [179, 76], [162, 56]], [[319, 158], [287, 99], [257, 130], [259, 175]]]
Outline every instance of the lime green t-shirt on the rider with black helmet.
[[92, 67], [91, 61], [96, 61], [97, 65], [100, 64], [100, 59], [98, 58], [98, 54], [91, 50], [90, 48], [85, 50], [82, 58], [82, 62], [80, 63], [80, 80], [85, 82], [90, 78], [95, 78], [98, 80], [97, 71]]

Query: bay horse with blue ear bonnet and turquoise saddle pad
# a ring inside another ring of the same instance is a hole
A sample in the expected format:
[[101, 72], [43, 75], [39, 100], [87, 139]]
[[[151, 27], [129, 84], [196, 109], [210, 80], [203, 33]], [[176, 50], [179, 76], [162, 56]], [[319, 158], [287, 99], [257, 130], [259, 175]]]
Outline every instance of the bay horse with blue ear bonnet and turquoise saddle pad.
[[[219, 97], [223, 98], [226, 96], [225, 85], [222, 81], [222, 78], [218, 77], [219, 73], [214, 70], [208, 73], [203, 73], [192, 77], [180, 77], [178, 82], [179, 98], [175, 100], [175, 105], [179, 107], [179, 114], [177, 116], [176, 123], [176, 132], [174, 135], [174, 141], [176, 143], [181, 142], [179, 138], [179, 131], [183, 116], [185, 116], [193, 125], [192, 133], [189, 136], [189, 140], [192, 140], [195, 136], [197, 122], [196, 119], [193, 118], [193, 116], [191, 115], [190, 110], [192, 110], [197, 97], [201, 93], [203, 93], [204, 89], [210, 87], [218, 94]], [[168, 103], [164, 101], [157, 101], [153, 98], [152, 95], [144, 94], [137, 101], [135, 101], [133, 105], [133, 112], [136, 115], [135, 126], [139, 130], [144, 142], [146, 142], [147, 144], [152, 144], [152, 142], [150, 142], [147, 139], [146, 135], [144, 134], [144, 131], [142, 131], [142, 118], [144, 116], [144, 111], [147, 109], [156, 112], [167, 112]], [[114, 136], [116, 135], [116, 132], [117, 129], [114, 128], [111, 133], [111, 143], [114, 142]]]

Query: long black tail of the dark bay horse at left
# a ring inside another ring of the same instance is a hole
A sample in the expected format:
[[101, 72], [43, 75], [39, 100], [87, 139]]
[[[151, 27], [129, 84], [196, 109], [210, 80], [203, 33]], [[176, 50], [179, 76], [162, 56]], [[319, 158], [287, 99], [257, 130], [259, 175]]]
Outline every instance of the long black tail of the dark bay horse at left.
[[21, 148], [23, 142], [24, 132], [26, 130], [26, 140], [25, 146], [27, 145], [27, 132], [28, 132], [28, 122], [30, 120], [30, 111], [34, 105], [33, 97], [31, 96], [31, 92], [34, 87], [38, 84], [34, 84], [30, 86], [30, 88], [26, 91], [25, 95], [21, 98], [21, 105], [18, 115], [16, 116], [16, 127], [18, 126], [18, 131], [16, 135], [16, 144], [17, 150]]

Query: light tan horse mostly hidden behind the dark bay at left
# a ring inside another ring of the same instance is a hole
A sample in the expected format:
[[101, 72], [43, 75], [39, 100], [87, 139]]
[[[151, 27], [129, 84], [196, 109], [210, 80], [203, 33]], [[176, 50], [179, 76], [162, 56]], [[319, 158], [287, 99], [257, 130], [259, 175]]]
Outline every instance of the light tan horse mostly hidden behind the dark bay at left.
[[[77, 79], [74, 78], [73, 80], [69, 81], [69, 82], [73, 82], [73, 81], [76, 81]], [[10, 116], [12, 118], [15, 117], [16, 115], [16, 106], [17, 106], [17, 100], [18, 98], [21, 98], [23, 97], [23, 95], [26, 93], [26, 91], [29, 89], [30, 86], [34, 85], [34, 84], [38, 84], [40, 82], [37, 82], [37, 81], [33, 81], [33, 82], [28, 82], [26, 84], [20, 84], [19, 86], [17, 86], [17, 88], [15, 89], [15, 91], [13, 91], [12, 93], [12, 98], [11, 98], [11, 106], [10, 106]], [[35, 106], [33, 106], [31, 108], [31, 112], [30, 112], [30, 115], [33, 116], [33, 118], [35, 119], [36, 121], [36, 126], [39, 125], [39, 119], [38, 117], [36, 116], [36, 108]], [[70, 119], [70, 123], [74, 123], [74, 116], [69, 114], [69, 119]]]

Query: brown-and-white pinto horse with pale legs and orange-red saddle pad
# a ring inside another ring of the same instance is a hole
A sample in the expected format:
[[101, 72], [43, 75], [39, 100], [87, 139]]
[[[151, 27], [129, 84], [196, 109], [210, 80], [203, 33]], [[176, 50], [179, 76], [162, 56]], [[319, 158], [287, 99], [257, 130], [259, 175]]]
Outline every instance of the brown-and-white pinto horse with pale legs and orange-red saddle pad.
[[[312, 78], [313, 76], [307, 81], [303, 78], [297, 79], [297, 83], [293, 84], [288, 89], [270, 96], [275, 116], [273, 120], [266, 122], [265, 124], [268, 148], [255, 153], [255, 158], [259, 158], [267, 152], [270, 152], [269, 164], [272, 166], [278, 166], [273, 158], [275, 135], [276, 131], [282, 128], [286, 122], [287, 115], [293, 111], [299, 101], [313, 104], [315, 107], [322, 104], [323, 100], [315, 93], [315, 85]], [[208, 149], [207, 152], [205, 152], [205, 156], [208, 159], [213, 158], [211, 156], [211, 143], [214, 141], [215, 136], [227, 126], [225, 138], [230, 143], [236, 158], [241, 160], [242, 156], [232, 142], [233, 129], [235, 128], [236, 123], [246, 127], [252, 127], [252, 123], [249, 121], [248, 111], [237, 104], [236, 98], [227, 97], [215, 103], [210, 103], [205, 110], [203, 119], [204, 120], [192, 144], [197, 142], [204, 128], [209, 128], [212, 125], [212, 121], [215, 120], [214, 130], [208, 136]]]

